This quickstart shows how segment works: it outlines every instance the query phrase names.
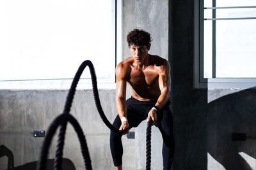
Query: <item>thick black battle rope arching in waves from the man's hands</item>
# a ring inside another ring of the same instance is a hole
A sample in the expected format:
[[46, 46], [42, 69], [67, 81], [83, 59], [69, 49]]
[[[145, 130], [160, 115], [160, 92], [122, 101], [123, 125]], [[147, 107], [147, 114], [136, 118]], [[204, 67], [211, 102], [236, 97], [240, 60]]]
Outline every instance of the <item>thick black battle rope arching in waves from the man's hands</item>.
[[[84, 164], [85, 164], [86, 169], [88, 169], [88, 170], [92, 169], [90, 154], [88, 152], [88, 147], [87, 147], [87, 144], [86, 144], [85, 136], [83, 134], [83, 130], [81, 129], [77, 120], [69, 114], [70, 113], [70, 108], [72, 106], [72, 101], [74, 99], [74, 94], [76, 92], [77, 83], [78, 83], [78, 81], [81, 77], [81, 74], [83, 73], [86, 66], [88, 66], [89, 69], [90, 69], [91, 78], [92, 78], [93, 97], [94, 97], [94, 101], [95, 101], [97, 110], [99, 112], [99, 115], [102, 118], [102, 121], [104, 122], [104, 124], [106, 124], [108, 126], [109, 129], [111, 129], [111, 131], [114, 131], [118, 134], [124, 134], [128, 130], [128, 129], [126, 129], [124, 131], [119, 131], [108, 121], [108, 118], [106, 118], [106, 115], [104, 114], [104, 111], [102, 110], [102, 107], [101, 107], [101, 104], [100, 104], [99, 92], [98, 92], [98, 88], [97, 88], [97, 78], [96, 78], [96, 74], [95, 74], [93, 64], [90, 60], [85, 60], [81, 64], [81, 66], [79, 66], [79, 69], [77, 70], [77, 73], [74, 77], [74, 80], [72, 81], [72, 85], [70, 87], [70, 90], [68, 91], [68, 96], [67, 96], [67, 99], [66, 99], [65, 108], [64, 108], [63, 113], [59, 117], [57, 117], [54, 120], [54, 122], [52, 122], [52, 124], [50, 125], [50, 127], [47, 131], [47, 134], [46, 134], [45, 140], [44, 140], [44, 144], [42, 146], [41, 154], [40, 154], [40, 160], [39, 160], [39, 163], [37, 165], [38, 170], [44, 170], [45, 169], [45, 164], [46, 164], [46, 160], [47, 160], [49, 146], [51, 145], [51, 140], [52, 140], [52, 138], [53, 138], [53, 136], [56, 132], [56, 129], [59, 126], [60, 126], [60, 132], [59, 132], [59, 135], [58, 135], [58, 144], [57, 144], [57, 149], [56, 149], [56, 159], [54, 160], [54, 170], [61, 169], [63, 146], [64, 146], [65, 131], [66, 131], [66, 128], [67, 128], [67, 122], [70, 122], [73, 125], [75, 131], [77, 132], [77, 135], [78, 135], [78, 138], [79, 138], [79, 141], [80, 141], [80, 145], [81, 145], [81, 150], [82, 150]], [[151, 125], [150, 125], [150, 131], [151, 131]], [[147, 135], [148, 135], [148, 132], [147, 132]], [[150, 135], [150, 138], [151, 138], [151, 132], [150, 132], [149, 135]], [[149, 138], [149, 143], [150, 143], [150, 138]], [[148, 137], [147, 137], [147, 140], [148, 140]], [[147, 143], [148, 143], [148, 141], [147, 141]], [[150, 147], [151, 147], [151, 145], [150, 145]], [[147, 147], [147, 157], [148, 157], [148, 153], [149, 153], [149, 157], [150, 157], [149, 159], [147, 158], [147, 160], [149, 160], [149, 161], [151, 159], [150, 149], [151, 148], [149, 148], [149, 151], [148, 151], [148, 147]], [[147, 163], [147, 165], [148, 165], [148, 163]], [[149, 169], [150, 169], [150, 163], [149, 163]]]

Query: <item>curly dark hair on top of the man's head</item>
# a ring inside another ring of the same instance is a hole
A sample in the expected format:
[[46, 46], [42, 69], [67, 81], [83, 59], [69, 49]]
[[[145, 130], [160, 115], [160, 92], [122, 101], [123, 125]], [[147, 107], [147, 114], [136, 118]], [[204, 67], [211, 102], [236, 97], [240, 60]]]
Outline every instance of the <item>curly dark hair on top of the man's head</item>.
[[136, 45], [148, 45], [151, 43], [151, 36], [148, 32], [143, 31], [142, 29], [133, 29], [131, 32], [127, 34], [127, 43], [128, 46]]

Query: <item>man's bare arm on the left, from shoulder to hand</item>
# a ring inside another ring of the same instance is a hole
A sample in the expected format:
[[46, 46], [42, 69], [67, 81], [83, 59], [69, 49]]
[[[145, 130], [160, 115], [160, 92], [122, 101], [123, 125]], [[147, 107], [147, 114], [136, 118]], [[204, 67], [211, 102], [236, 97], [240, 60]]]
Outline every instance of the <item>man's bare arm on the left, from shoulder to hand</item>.
[[125, 130], [129, 127], [126, 104], [126, 77], [128, 69], [126, 67], [122, 62], [116, 66], [116, 110], [122, 120], [119, 130]]

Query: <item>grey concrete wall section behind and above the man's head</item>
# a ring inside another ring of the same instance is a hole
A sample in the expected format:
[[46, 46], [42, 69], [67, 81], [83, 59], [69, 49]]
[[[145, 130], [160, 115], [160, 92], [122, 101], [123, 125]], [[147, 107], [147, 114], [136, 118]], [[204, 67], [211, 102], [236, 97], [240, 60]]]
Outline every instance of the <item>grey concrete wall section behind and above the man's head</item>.
[[131, 57], [126, 36], [134, 28], [150, 32], [152, 43], [149, 53], [168, 59], [169, 23], [168, 0], [123, 1], [123, 57]]

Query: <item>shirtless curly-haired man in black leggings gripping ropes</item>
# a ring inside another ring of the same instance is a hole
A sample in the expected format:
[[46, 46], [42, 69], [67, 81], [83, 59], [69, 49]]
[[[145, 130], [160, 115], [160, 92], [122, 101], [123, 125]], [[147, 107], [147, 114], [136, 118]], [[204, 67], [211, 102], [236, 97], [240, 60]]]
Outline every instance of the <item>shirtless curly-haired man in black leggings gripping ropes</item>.
[[[163, 136], [163, 169], [172, 166], [174, 140], [170, 112], [170, 64], [167, 60], [148, 54], [150, 34], [134, 29], [127, 35], [132, 57], [116, 67], [116, 110], [113, 125], [120, 130], [137, 127], [147, 118], [152, 120]], [[126, 101], [126, 84], [132, 97]], [[122, 135], [111, 131], [110, 148], [115, 169], [122, 169]]]

